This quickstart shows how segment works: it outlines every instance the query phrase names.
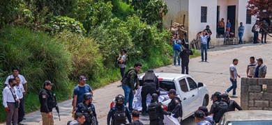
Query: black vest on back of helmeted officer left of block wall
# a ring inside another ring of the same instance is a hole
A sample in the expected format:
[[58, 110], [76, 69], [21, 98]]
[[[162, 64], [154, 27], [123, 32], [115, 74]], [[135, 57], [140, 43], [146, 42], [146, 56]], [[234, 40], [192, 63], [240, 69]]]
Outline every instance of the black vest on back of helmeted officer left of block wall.
[[229, 111], [229, 105], [225, 101], [216, 101], [214, 103], [216, 103], [216, 113], [213, 115], [213, 119], [218, 123], [222, 115]]

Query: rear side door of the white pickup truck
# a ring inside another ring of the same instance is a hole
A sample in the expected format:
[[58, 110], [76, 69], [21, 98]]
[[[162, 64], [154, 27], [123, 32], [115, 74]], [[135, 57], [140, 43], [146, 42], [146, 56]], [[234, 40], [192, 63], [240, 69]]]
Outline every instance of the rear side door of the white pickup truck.
[[181, 78], [179, 80], [179, 95], [181, 96], [181, 104], [183, 111], [183, 118], [189, 117], [192, 113], [192, 92], [189, 91], [188, 83], [186, 78]]

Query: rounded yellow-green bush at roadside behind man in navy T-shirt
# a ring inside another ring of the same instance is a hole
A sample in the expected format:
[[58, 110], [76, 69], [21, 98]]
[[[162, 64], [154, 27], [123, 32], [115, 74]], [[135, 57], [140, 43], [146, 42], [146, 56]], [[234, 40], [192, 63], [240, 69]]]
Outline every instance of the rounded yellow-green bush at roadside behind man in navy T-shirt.
[[69, 73], [70, 80], [77, 76], [85, 75], [89, 80], [96, 81], [103, 72], [102, 53], [96, 44], [90, 38], [84, 38], [80, 34], [61, 32], [54, 37], [55, 40], [62, 43], [66, 51], [70, 52], [70, 63], [72, 64]]

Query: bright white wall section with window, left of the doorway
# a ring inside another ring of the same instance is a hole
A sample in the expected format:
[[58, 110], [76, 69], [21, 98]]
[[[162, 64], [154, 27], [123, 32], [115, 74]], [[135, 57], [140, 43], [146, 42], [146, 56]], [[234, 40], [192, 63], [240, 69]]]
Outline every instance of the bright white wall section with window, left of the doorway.
[[[207, 7], [207, 22], [201, 22], [201, 7]], [[210, 26], [213, 35], [211, 35], [212, 44], [216, 42], [216, 0], [202, 1], [202, 0], [189, 0], [189, 28], [188, 28], [188, 42], [197, 39], [197, 33], [203, 31], [206, 25]], [[213, 44], [213, 45], [214, 45]]]

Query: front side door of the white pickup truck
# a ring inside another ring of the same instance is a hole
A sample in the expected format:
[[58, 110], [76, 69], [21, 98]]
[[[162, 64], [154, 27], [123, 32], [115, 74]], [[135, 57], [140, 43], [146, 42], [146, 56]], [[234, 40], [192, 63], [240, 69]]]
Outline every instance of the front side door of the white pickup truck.
[[191, 102], [192, 108], [194, 110], [197, 110], [199, 108], [199, 106], [202, 105], [202, 100], [200, 99], [200, 96], [199, 96], [199, 90], [197, 88], [197, 83], [195, 83], [195, 81], [190, 77], [187, 77], [186, 80], [187, 80], [188, 87], [189, 87], [190, 98], [192, 98], [191, 99], [192, 100], [192, 102]]

